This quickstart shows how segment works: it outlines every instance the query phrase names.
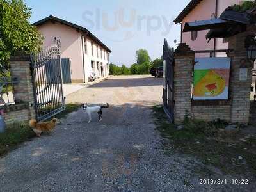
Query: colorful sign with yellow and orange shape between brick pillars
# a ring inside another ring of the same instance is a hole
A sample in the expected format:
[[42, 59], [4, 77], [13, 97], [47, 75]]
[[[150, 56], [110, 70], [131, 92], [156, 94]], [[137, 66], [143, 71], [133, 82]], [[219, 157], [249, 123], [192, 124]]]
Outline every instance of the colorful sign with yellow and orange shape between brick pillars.
[[228, 99], [230, 58], [195, 58], [193, 100]]

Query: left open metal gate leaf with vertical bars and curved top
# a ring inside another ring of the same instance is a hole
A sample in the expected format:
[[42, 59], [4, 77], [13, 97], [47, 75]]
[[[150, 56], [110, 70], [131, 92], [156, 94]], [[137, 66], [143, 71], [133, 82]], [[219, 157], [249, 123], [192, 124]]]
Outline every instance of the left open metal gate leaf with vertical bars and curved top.
[[60, 47], [52, 45], [31, 56], [36, 120], [42, 121], [65, 110]]

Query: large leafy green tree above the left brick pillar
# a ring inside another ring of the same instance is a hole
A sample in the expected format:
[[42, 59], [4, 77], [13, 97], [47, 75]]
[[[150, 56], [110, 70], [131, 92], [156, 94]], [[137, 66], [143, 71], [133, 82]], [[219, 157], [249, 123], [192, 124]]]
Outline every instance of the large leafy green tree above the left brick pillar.
[[15, 51], [38, 52], [42, 35], [29, 24], [31, 9], [22, 0], [0, 0], [0, 65], [9, 68]]

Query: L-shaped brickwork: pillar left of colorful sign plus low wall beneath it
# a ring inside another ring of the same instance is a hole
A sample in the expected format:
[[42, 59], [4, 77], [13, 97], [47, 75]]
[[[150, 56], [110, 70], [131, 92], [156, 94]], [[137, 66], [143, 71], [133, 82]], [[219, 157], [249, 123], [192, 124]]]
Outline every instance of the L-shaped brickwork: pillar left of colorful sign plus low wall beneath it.
[[184, 120], [186, 112], [189, 117], [199, 120], [227, 120], [230, 121], [230, 102], [212, 102], [205, 101], [200, 104], [191, 100], [191, 90], [193, 83], [193, 65], [195, 53], [191, 51], [186, 44], [180, 44], [175, 51], [174, 67], [174, 99], [175, 122], [179, 123]]

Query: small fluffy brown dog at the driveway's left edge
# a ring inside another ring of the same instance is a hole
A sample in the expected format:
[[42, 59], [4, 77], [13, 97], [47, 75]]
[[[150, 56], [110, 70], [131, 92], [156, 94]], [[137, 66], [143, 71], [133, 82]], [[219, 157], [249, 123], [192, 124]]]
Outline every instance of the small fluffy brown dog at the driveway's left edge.
[[57, 121], [57, 118], [53, 118], [51, 122], [36, 122], [35, 119], [32, 119], [29, 121], [29, 127], [33, 129], [38, 137], [40, 137], [42, 132], [50, 134], [52, 129], [54, 129], [55, 125], [57, 124]]

